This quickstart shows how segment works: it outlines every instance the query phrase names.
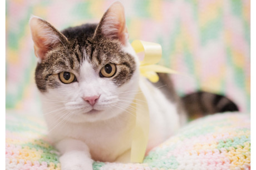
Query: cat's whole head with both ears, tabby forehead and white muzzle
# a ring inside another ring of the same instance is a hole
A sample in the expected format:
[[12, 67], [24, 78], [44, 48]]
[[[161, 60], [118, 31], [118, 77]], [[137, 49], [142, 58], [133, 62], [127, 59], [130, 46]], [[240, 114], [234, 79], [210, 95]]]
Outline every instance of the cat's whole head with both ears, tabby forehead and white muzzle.
[[62, 32], [38, 17], [29, 24], [38, 57], [36, 84], [49, 106], [46, 114], [95, 122], [130, 106], [138, 89], [139, 62], [120, 2], [107, 9], [99, 24]]

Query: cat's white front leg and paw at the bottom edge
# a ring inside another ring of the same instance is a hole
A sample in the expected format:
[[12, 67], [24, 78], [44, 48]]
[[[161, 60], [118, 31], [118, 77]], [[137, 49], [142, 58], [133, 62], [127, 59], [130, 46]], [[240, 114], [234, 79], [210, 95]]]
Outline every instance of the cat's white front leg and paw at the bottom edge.
[[61, 153], [60, 162], [63, 170], [92, 170], [93, 160], [86, 143], [76, 139], [63, 139], [56, 143]]

